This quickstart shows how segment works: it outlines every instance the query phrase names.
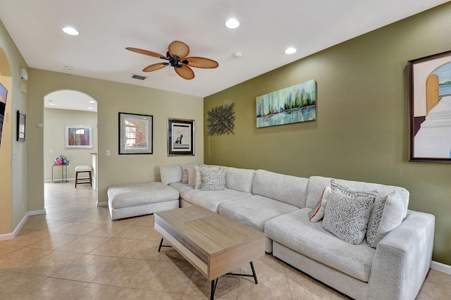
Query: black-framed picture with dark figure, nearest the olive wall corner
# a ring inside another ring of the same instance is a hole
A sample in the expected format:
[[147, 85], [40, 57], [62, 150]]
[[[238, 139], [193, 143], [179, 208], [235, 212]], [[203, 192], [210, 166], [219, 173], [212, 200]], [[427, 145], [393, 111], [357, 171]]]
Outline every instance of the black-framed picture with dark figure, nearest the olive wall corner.
[[194, 120], [168, 118], [168, 156], [194, 155]]

